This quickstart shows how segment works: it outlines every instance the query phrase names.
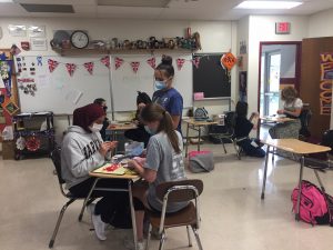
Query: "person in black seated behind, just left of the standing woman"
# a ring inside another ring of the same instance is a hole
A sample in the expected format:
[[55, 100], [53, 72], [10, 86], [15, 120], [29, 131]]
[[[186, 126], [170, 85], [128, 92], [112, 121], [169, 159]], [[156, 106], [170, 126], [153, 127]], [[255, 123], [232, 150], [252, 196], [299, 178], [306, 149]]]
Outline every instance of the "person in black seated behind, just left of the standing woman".
[[133, 140], [133, 141], [139, 141], [144, 143], [144, 148], [148, 146], [148, 141], [150, 138], [149, 132], [145, 131], [144, 124], [140, 121], [140, 112], [141, 109], [151, 103], [150, 97], [145, 92], [140, 92], [138, 91], [138, 97], [137, 97], [137, 113], [134, 118], [134, 122], [137, 123], [138, 128], [137, 129], [130, 129], [124, 132], [125, 138]]

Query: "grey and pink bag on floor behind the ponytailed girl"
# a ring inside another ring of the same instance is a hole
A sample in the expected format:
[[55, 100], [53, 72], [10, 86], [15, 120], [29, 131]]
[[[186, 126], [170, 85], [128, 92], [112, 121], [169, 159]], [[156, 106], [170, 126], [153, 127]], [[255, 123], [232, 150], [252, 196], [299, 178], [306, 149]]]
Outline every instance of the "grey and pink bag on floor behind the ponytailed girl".
[[214, 169], [214, 158], [211, 151], [191, 151], [189, 153], [191, 172], [210, 172]]

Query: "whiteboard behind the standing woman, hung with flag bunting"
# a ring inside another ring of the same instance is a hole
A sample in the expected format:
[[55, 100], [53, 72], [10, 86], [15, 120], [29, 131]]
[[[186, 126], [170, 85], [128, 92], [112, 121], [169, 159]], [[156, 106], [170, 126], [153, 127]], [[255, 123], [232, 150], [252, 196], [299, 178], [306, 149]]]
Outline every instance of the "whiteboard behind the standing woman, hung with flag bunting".
[[[193, 102], [193, 87], [192, 87], [192, 56], [186, 54], [170, 54], [173, 58], [174, 79], [173, 87], [183, 97], [184, 108], [192, 107]], [[124, 60], [123, 64], [115, 69], [114, 59], [121, 58]], [[150, 97], [154, 92], [154, 70], [147, 63], [147, 60], [153, 56], [142, 54], [119, 54], [112, 56], [112, 97], [114, 111], [133, 111], [137, 110], [137, 91], [144, 91]], [[155, 54], [157, 66], [160, 63], [162, 56]], [[181, 70], [178, 70], [175, 60], [178, 58], [185, 59]], [[133, 72], [131, 62], [140, 62], [137, 73]]]

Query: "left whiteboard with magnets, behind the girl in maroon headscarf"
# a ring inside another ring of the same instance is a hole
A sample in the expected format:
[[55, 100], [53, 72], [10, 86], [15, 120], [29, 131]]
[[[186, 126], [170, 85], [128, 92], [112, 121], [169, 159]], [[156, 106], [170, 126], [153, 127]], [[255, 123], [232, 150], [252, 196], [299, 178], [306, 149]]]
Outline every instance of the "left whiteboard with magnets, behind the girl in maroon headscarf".
[[[42, 57], [40, 66], [37, 57], [26, 56], [27, 71], [18, 74], [18, 86], [20, 79], [34, 79], [37, 91], [31, 96], [19, 89], [21, 112], [53, 111], [56, 114], [71, 114], [75, 108], [92, 103], [95, 98], [105, 99], [111, 107], [110, 69], [100, 62], [101, 58], [103, 56]], [[49, 70], [48, 59], [61, 62], [53, 72]], [[83, 63], [90, 61], [94, 62], [92, 74], [83, 67]], [[72, 77], [64, 66], [68, 62], [78, 66]], [[31, 74], [31, 68], [36, 69], [34, 74]]]

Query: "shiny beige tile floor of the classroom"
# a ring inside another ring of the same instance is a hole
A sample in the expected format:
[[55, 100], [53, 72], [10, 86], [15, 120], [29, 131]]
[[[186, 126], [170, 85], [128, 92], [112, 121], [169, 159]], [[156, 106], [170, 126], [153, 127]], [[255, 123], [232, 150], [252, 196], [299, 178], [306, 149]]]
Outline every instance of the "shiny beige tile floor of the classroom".
[[[275, 158], [269, 170], [266, 199], [260, 200], [263, 160], [236, 160], [231, 147], [224, 154], [221, 146], [204, 146], [215, 156], [215, 170], [191, 174], [204, 181], [201, 198], [204, 250], [332, 250], [333, 228], [295, 222], [290, 196], [297, 182], [299, 166]], [[49, 159], [0, 160], [0, 250], [42, 250], [56, 224], [62, 198]], [[274, 170], [274, 171], [272, 171]], [[305, 179], [315, 181], [311, 170]], [[333, 173], [323, 177], [333, 193]], [[78, 214], [82, 202], [64, 214], [54, 250], [122, 250], [122, 239], [130, 230], [110, 230], [99, 242], [90, 231], [90, 217], [82, 222]], [[151, 244], [158, 249], [158, 242]], [[165, 249], [188, 249], [185, 229], [170, 230]], [[192, 249], [196, 249], [194, 244]]]

